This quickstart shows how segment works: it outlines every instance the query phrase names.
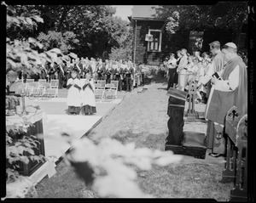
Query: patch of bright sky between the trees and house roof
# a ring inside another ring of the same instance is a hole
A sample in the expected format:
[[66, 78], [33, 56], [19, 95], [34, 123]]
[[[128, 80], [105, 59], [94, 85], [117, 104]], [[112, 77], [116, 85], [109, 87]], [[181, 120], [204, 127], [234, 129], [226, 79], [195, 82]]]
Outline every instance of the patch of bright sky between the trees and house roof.
[[136, 5], [131, 8], [131, 19], [134, 20], [159, 20], [155, 8], [158, 5]]

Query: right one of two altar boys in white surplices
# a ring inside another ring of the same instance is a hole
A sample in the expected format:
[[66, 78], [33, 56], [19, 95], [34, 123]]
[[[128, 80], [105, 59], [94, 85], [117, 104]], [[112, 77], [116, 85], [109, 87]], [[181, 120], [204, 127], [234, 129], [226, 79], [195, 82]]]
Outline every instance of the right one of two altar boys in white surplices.
[[82, 107], [81, 114], [82, 115], [91, 115], [96, 113], [96, 101], [95, 101], [95, 86], [93, 79], [90, 78], [90, 73], [87, 72], [85, 75], [84, 84], [82, 84], [81, 91], [81, 99], [82, 99]]

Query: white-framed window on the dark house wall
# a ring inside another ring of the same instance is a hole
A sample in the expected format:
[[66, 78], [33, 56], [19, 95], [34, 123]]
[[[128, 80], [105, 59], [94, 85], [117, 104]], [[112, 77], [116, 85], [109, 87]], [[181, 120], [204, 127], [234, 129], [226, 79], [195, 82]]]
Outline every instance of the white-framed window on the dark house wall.
[[162, 42], [162, 31], [149, 29], [148, 34], [153, 36], [153, 41], [148, 42], [148, 52], [160, 52]]

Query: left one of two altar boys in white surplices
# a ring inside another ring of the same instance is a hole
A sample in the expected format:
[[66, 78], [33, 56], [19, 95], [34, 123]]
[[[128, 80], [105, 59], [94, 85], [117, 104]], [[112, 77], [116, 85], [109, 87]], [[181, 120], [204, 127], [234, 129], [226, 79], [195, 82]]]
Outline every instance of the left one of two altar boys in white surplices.
[[67, 114], [79, 115], [81, 99], [80, 99], [80, 80], [75, 69], [71, 70], [71, 78], [67, 81]]

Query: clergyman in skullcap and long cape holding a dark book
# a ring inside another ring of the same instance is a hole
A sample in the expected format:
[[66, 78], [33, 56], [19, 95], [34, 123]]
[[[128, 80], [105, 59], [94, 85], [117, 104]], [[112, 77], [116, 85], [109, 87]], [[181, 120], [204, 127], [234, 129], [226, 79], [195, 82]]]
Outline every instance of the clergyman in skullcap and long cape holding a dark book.
[[213, 91], [207, 103], [206, 119], [214, 122], [212, 154], [225, 153], [224, 120], [228, 110], [236, 106], [240, 115], [247, 114], [247, 68], [237, 55], [237, 47], [228, 42], [222, 48], [226, 64], [219, 79], [212, 77]]

